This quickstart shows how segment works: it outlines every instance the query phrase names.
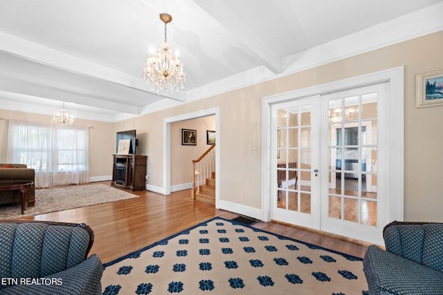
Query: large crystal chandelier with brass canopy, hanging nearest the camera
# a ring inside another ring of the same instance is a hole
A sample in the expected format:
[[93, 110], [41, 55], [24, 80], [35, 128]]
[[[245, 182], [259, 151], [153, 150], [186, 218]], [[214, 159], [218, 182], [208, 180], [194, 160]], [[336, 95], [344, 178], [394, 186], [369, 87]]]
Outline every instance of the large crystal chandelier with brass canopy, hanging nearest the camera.
[[183, 63], [173, 55], [166, 39], [166, 25], [172, 21], [168, 13], [161, 13], [160, 19], [165, 23], [165, 41], [160, 44], [159, 50], [152, 57], [146, 59], [145, 75], [146, 84], [157, 93], [170, 89], [179, 92], [185, 86], [185, 73]]

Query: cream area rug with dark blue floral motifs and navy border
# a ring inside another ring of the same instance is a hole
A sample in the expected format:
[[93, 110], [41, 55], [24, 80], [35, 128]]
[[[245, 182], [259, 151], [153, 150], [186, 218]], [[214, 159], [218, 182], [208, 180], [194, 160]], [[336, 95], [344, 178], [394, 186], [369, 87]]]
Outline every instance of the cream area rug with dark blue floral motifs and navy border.
[[105, 263], [103, 294], [368, 294], [361, 258], [213, 218]]

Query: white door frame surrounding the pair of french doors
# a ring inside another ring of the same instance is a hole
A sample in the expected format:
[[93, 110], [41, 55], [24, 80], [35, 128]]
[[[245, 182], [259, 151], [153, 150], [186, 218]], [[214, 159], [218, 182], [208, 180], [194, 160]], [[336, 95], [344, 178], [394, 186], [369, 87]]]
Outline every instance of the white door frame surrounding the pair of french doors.
[[[262, 220], [271, 220], [271, 105], [292, 99], [325, 95], [349, 88], [388, 82], [389, 178], [388, 220], [404, 220], [404, 67], [390, 68], [297, 91], [264, 97], [262, 100]], [[321, 192], [320, 192], [321, 193]]]

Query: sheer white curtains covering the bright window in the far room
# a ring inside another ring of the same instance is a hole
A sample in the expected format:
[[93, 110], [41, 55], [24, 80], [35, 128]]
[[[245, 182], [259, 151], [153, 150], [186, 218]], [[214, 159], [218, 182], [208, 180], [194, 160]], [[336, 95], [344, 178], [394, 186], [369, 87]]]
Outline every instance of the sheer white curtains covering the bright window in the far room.
[[35, 169], [35, 187], [89, 182], [89, 129], [10, 121], [8, 162]]

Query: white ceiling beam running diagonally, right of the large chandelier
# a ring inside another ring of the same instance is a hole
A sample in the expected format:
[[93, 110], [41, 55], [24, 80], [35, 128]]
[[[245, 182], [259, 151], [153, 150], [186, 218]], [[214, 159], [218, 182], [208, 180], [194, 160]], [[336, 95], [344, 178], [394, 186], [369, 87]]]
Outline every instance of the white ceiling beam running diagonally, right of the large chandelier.
[[252, 56], [260, 59], [262, 64], [273, 73], [282, 73], [280, 56], [260, 39], [251, 28], [235, 15], [222, 1], [193, 0], [210, 17], [223, 26], [230, 35], [245, 44]]

